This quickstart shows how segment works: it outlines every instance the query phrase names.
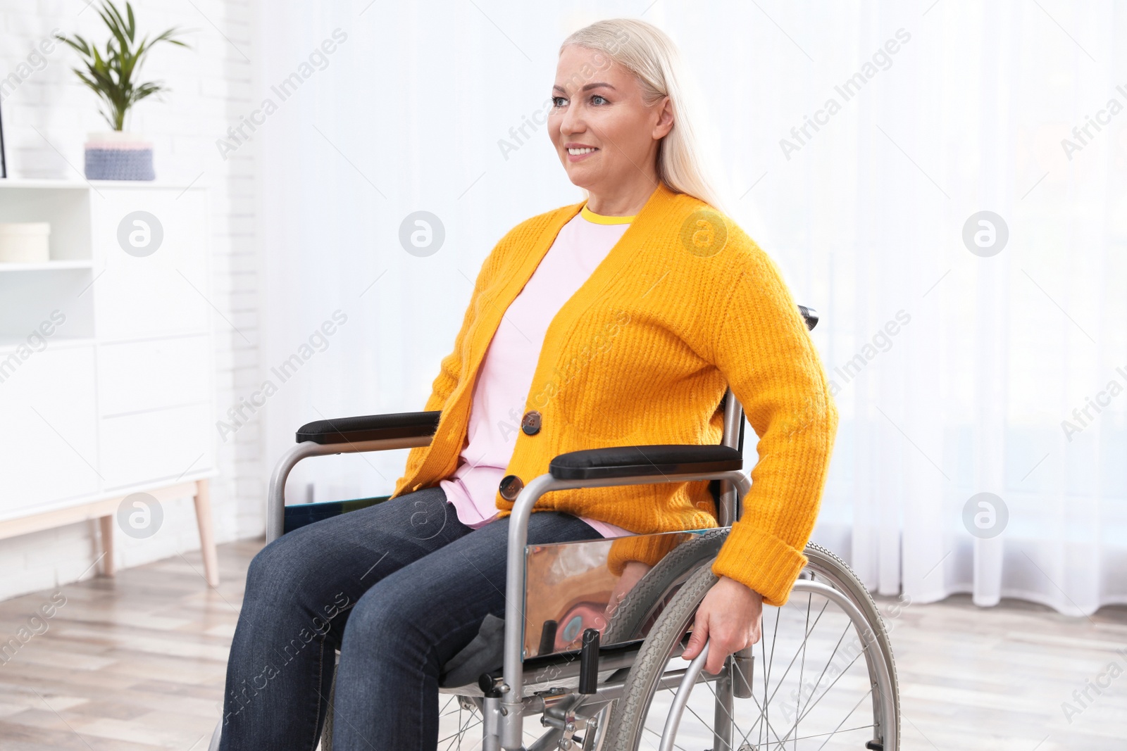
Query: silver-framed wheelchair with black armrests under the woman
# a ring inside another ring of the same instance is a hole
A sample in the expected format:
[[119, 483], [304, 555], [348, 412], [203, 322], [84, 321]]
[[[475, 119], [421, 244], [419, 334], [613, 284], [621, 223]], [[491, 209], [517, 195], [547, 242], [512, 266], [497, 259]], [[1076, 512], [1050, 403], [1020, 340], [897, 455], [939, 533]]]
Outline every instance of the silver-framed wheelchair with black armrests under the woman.
[[[817, 313], [798, 307], [814, 329]], [[505, 594], [507, 602], [524, 606], [524, 617], [487, 617], [473, 642], [444, 667], [438, 749], [898, 751], [899, 692], [888, 632], [857, 575], [818, 545], [807, 545], [808, 563], [787, 604], [764, 605], [757, 644], [728, 656], [716, 676], [703, 670], [707, 645], [687, 664], [681, 658], [696, 608], [718, 581], [711, 563], [751, 488], [742, 459], [744, 411], [730, 388], [718, 410], [724, 412], [720, 445], [573, 452], [556, 457], [548, 473], [520, 492], [508, 533]], [[298, 462], [426, 446], [438, 415], [409, 412], [303, 426], [270, 479], [267, 542], [388, 500], [285, 506], [285, 481]], [[717, 500], [719, 527], [526, 545], [532, 507], [544, 493], [700, 480], [709, 481]], [[658, 549], [660, 557], [606, 610], [609, 620], [593, 624], [591, 614], [607, 599], [607, 548], [619, 544]], [[548, 597], [552, 588], [536, 573], [549, 560], [552, 570], [561, 560], [583, 570], [565, 580], [570, 584], [554, 585], [554, 601]], [[560, 591], [568, 587], [586, 591]], [[321, 751], [332, 746], [334, 692]], [[221, 726], [222, 719], [213, 750]]]

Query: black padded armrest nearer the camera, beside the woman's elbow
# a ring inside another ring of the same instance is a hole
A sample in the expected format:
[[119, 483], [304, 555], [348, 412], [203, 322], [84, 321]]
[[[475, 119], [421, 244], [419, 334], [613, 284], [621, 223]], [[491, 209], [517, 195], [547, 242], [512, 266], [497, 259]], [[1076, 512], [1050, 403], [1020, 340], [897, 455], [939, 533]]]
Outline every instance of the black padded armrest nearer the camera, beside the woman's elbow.
[[605, 480], [743, 470], [744, 457], [728, 446], [615, 446], [560, 454], [548, 471], [557, 480]]

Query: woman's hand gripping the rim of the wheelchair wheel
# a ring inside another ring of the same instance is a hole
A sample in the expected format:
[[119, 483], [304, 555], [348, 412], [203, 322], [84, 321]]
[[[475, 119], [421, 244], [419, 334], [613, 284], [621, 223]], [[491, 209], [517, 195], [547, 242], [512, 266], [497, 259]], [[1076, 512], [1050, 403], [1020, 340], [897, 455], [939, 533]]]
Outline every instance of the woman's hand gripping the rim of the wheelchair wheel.
[[696, 609], [693, 634], [683, 656], [692, 660], [709, 643], [704, 670], [717, 676], [733, 652], [760, 641], [763, 596], [735, 579], [720, 576]]

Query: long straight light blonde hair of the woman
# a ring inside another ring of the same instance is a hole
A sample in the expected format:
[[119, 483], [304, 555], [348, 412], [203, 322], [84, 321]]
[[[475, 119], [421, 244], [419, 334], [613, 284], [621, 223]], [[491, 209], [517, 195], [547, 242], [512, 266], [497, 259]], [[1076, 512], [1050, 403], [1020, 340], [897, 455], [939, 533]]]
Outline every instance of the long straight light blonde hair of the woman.
[[647, 106], [669, 97], [673, 129], [658, 143], [657, 177], [673, 191], [727, 213], [726, 193], [717, 189], [719, 170], [701, 141], [699, 93], [673, 39], [644, 20], [610, 18], [571, 34], [560, 53], [569, 45], [602, 52], [633, 73]]

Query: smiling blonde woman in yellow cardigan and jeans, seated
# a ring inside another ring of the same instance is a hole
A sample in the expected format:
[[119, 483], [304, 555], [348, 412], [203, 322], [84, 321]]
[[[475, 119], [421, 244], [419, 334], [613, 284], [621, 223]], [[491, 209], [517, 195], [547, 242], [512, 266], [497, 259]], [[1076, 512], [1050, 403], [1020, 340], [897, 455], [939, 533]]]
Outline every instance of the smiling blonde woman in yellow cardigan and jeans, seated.
[[[730, 385], [760, 437], [753, 488], [686, 658], [758, 641], [801, 570], [837, 412], [773, 261], [720, 213], [668, 37], [606, 20], [561, 48], [548, 131], [587, 199], [486, 259], [427, 400], [442, 419], [384, 503], [303, 527], [251, 562], [222, 749], [311, 750], [334, 649], [336, 749], [434, 749], [441, 667], [505, 613], [509, 511], [556, 455], [718, 444]], [[530, 544], [716, 526], [707, 482], [540, 499]], [[628, 562], [623, 580], [645, 563]]]

